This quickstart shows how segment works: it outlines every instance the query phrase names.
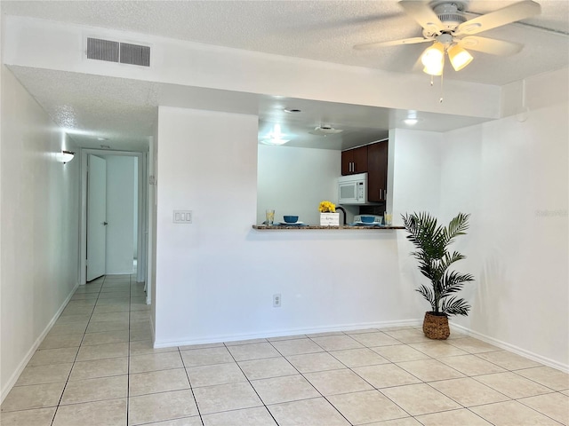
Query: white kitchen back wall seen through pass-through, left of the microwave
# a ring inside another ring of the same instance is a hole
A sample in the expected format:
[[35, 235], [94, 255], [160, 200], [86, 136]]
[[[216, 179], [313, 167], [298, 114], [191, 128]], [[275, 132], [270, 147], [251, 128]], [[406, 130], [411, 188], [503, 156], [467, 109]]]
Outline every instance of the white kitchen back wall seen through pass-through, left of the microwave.
[[310, 225], [320, 223], [320, 201], [338, 201], [341, 152], [292, 146], [259, 145], [257, 224], [265, 210], [275, 209], [275, 221], [296, 215]]

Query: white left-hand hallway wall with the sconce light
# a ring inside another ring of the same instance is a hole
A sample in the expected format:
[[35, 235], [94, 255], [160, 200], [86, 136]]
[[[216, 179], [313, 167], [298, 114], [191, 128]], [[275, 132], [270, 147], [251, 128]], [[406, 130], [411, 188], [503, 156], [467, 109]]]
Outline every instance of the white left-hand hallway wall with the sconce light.
[[2, 67], [2, 398], [78, 282], [79, 164], [76, 151], [12, 73]]

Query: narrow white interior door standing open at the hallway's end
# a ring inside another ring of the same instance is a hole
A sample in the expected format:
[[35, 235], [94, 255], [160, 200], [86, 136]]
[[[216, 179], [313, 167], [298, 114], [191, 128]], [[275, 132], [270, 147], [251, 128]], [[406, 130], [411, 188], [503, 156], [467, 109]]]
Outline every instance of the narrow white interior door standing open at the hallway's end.
[[107, 162], [87, 157], [87, 281], [105, 274], [107, 256]]

